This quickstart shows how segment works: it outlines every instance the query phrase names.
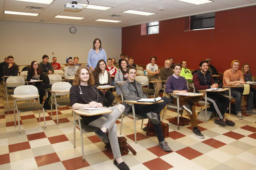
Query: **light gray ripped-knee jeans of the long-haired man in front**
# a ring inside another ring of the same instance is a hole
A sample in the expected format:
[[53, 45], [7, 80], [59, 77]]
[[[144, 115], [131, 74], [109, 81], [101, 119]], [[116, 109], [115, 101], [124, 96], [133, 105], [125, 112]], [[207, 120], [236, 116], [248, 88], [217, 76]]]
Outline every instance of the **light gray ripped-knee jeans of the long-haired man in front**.
[[[118, 110], [118, 107], [121, 107], [122, 111]], [[124, 112], [124, 105], [116, 105], [114, 107], [108, 107], [109, 110], [113, 112], [110, 114], [104, 114], [102, 117], [92, 121], [88, 125], [102, 128], [105, 127], [108, 129], [108, 138], [111, 145], [111, 149], [114, 155], [114, 158], [120, 158], [121, 153], [119, 149], [119, 144], [117, 140], [117, 128], [116, 128], [116, 120], [122, 115]]]

